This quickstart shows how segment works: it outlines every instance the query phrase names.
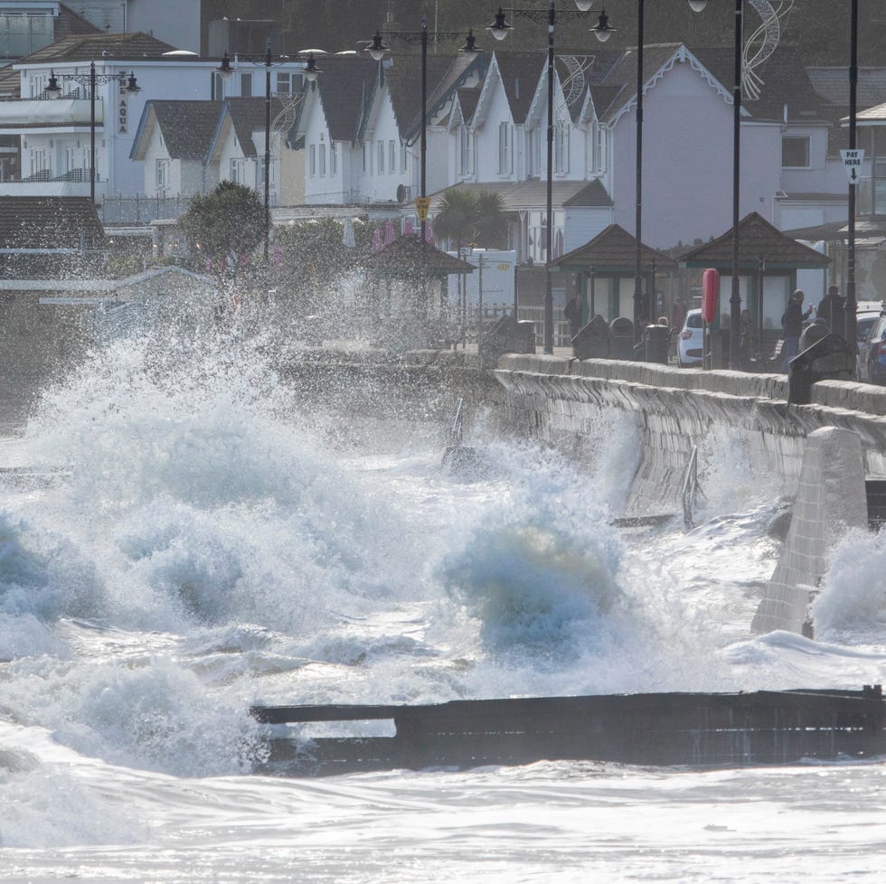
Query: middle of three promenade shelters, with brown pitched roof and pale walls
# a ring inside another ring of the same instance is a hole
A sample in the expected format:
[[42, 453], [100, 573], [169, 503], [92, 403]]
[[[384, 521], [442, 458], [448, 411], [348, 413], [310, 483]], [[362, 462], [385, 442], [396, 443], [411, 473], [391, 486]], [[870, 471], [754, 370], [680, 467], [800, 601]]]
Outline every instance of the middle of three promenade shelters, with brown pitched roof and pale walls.
[[[640, 244], [647, 317], [655, 318], [655, 304], [648, 300], [655, 293], [655, 274], [670, 272], [676, 266], [674, 259], [664, 252]], [[623, 227], [610, 224], [593, 240], [552, 260], [551, 269], [576, 274], [582, 324], [597, 314], [609, 321], [617, 316], [627, 316], [633, 321], [636, 238]]]

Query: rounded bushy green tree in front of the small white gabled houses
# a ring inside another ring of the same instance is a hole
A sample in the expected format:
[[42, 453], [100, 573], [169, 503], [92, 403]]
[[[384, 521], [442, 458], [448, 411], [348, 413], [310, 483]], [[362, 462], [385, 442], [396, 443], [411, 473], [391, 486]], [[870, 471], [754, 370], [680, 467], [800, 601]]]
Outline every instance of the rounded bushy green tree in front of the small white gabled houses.
[[193, 197], [179, 226], [193, 266], [231, 280], [264, 239], [265, 207], [249, 187], [222, 181], [212, 193]]

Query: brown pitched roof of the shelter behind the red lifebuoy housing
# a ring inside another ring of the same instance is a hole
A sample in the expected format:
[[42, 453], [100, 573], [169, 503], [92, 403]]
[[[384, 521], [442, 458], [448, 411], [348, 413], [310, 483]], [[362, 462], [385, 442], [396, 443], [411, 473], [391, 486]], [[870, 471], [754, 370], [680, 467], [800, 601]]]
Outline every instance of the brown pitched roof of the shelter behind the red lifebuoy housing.
[[[822, 268], [830, 260], [773, 227], [758, 212], [750, 212], [739, 222], [739, 264], [744, 268], [759, 267], [765, 259], [768, 268]], [[677, 259], [683, 267], [732, 267], [732, 229], [716, 240], [690, 249]]]

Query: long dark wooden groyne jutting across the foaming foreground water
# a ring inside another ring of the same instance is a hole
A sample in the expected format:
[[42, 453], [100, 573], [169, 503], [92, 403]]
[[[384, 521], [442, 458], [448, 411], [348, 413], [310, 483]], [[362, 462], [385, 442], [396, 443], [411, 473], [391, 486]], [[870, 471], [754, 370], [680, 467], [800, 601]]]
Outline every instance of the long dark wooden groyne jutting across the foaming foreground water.
[[269, 757], [260, 769], [290, 776], [543, 759], [737, 767], [886, 754], [886, 703], [879, 684], [861, 691], [614, 694], [250, 711], [278, 726], [393, 722], [391, 737], [310, 738], [269, 729]]

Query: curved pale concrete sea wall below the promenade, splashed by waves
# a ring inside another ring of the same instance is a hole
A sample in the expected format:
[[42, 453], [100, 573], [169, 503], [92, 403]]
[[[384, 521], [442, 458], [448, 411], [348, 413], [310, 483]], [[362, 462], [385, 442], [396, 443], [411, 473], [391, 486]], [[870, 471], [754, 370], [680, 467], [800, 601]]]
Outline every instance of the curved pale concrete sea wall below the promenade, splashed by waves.
[[812, 403], [797, 406], [787, 404], [783, 375], [516, 354], [502, 357], [495, 377], [506, 425], [554, 445], [586, 437], [601, 412], [633, 416], [640, 456], [626, 515], [679, 509], [692, 449], [714, 428], [740, 434], [761, 480], [777, 475], [795, 491], [806, 437], [823, 427], [857, 433], [864, 472], [886, 475], [884, 388], [822, 381]]

